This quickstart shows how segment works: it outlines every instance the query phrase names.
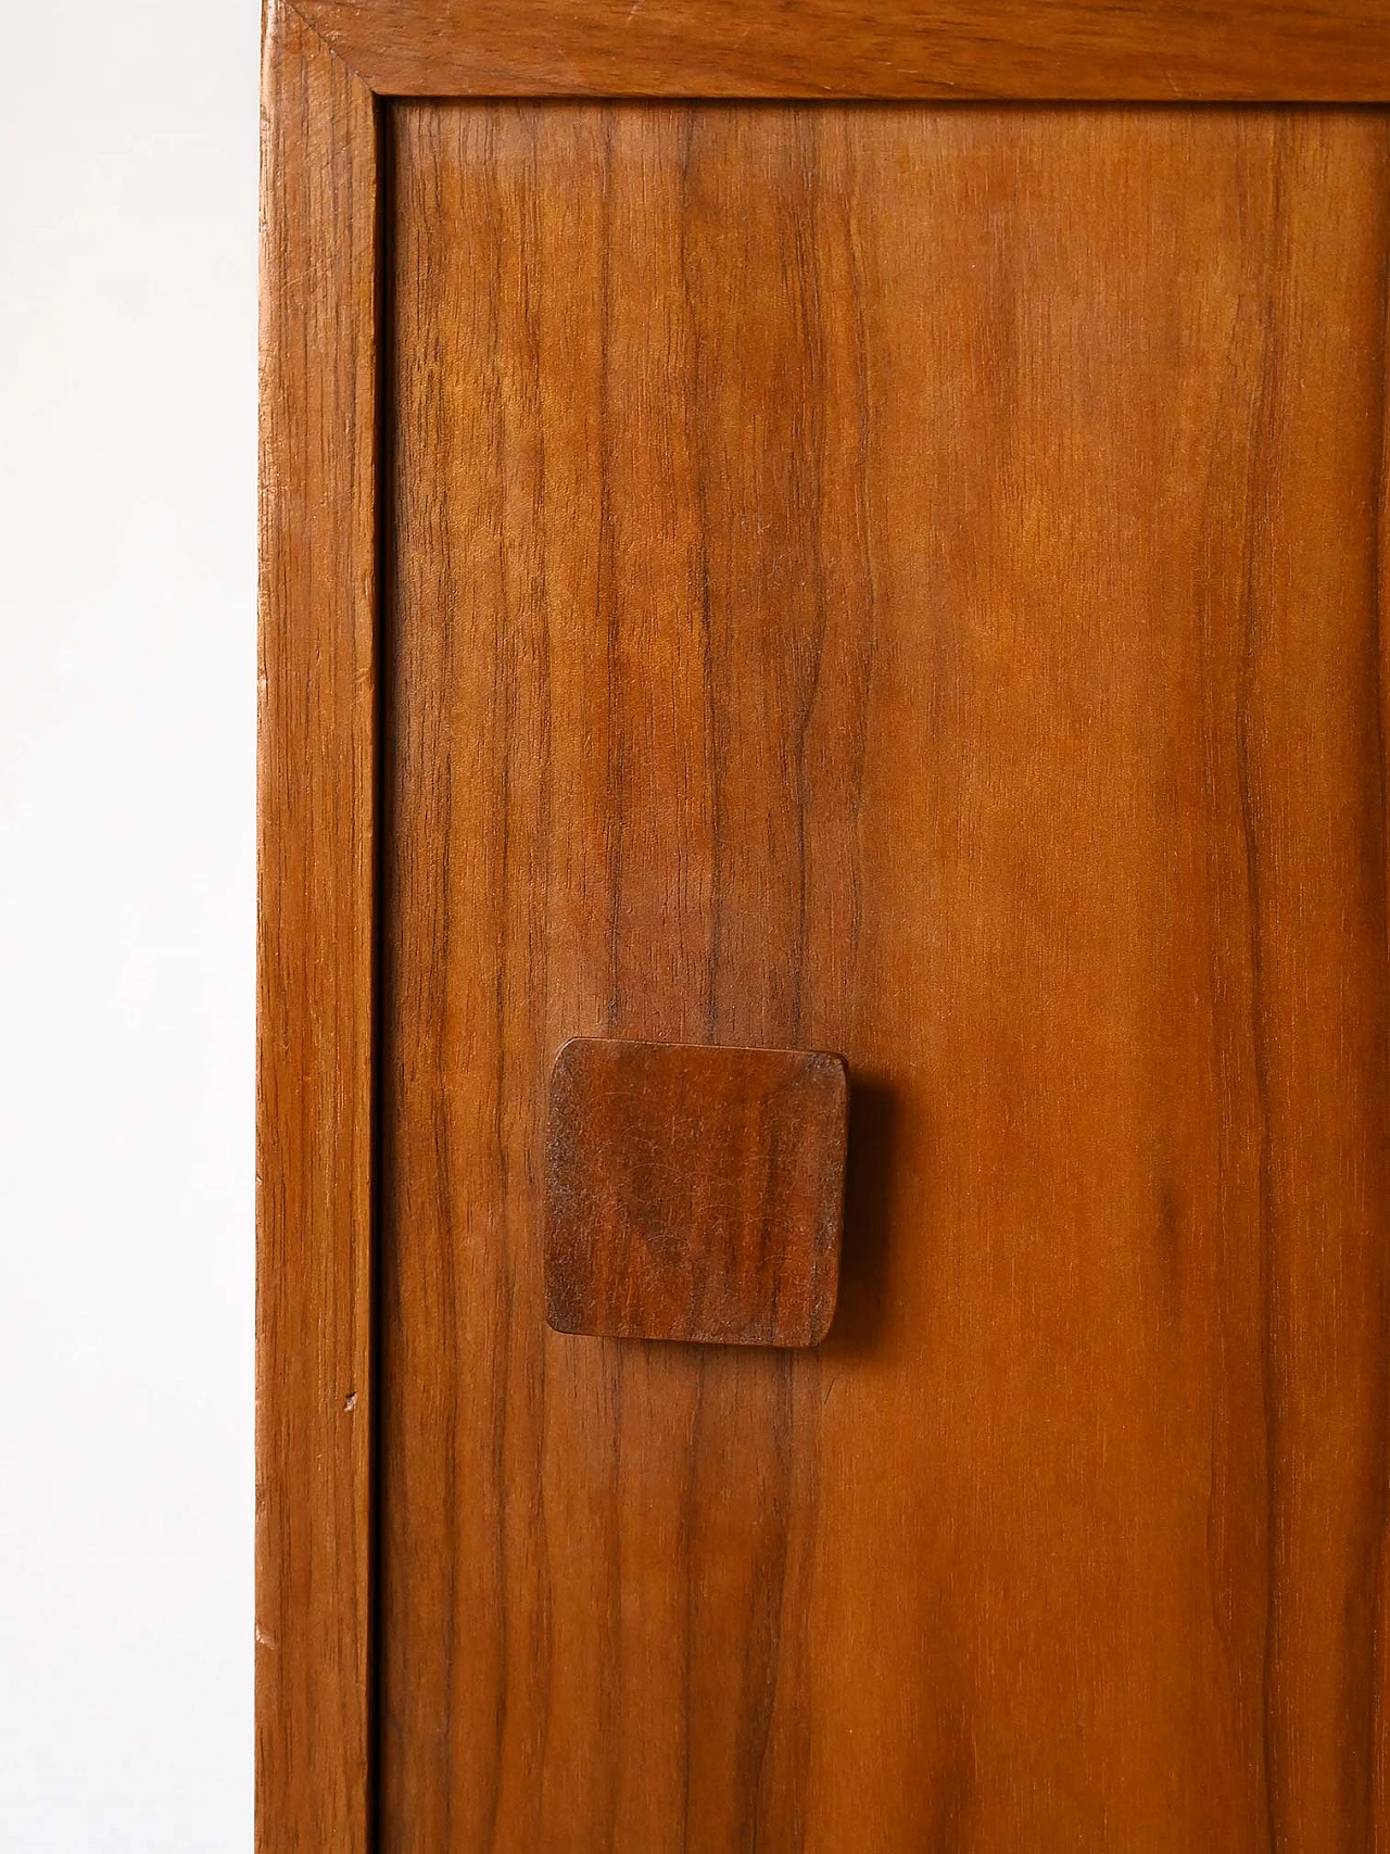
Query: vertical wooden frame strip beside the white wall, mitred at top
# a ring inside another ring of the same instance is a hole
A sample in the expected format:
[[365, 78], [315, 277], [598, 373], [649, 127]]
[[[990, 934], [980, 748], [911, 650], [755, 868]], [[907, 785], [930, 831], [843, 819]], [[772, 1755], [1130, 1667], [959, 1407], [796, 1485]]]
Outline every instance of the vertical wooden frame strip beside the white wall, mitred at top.
[[267, 13], [256, 1847], [369, 1847], [376, 137]]

